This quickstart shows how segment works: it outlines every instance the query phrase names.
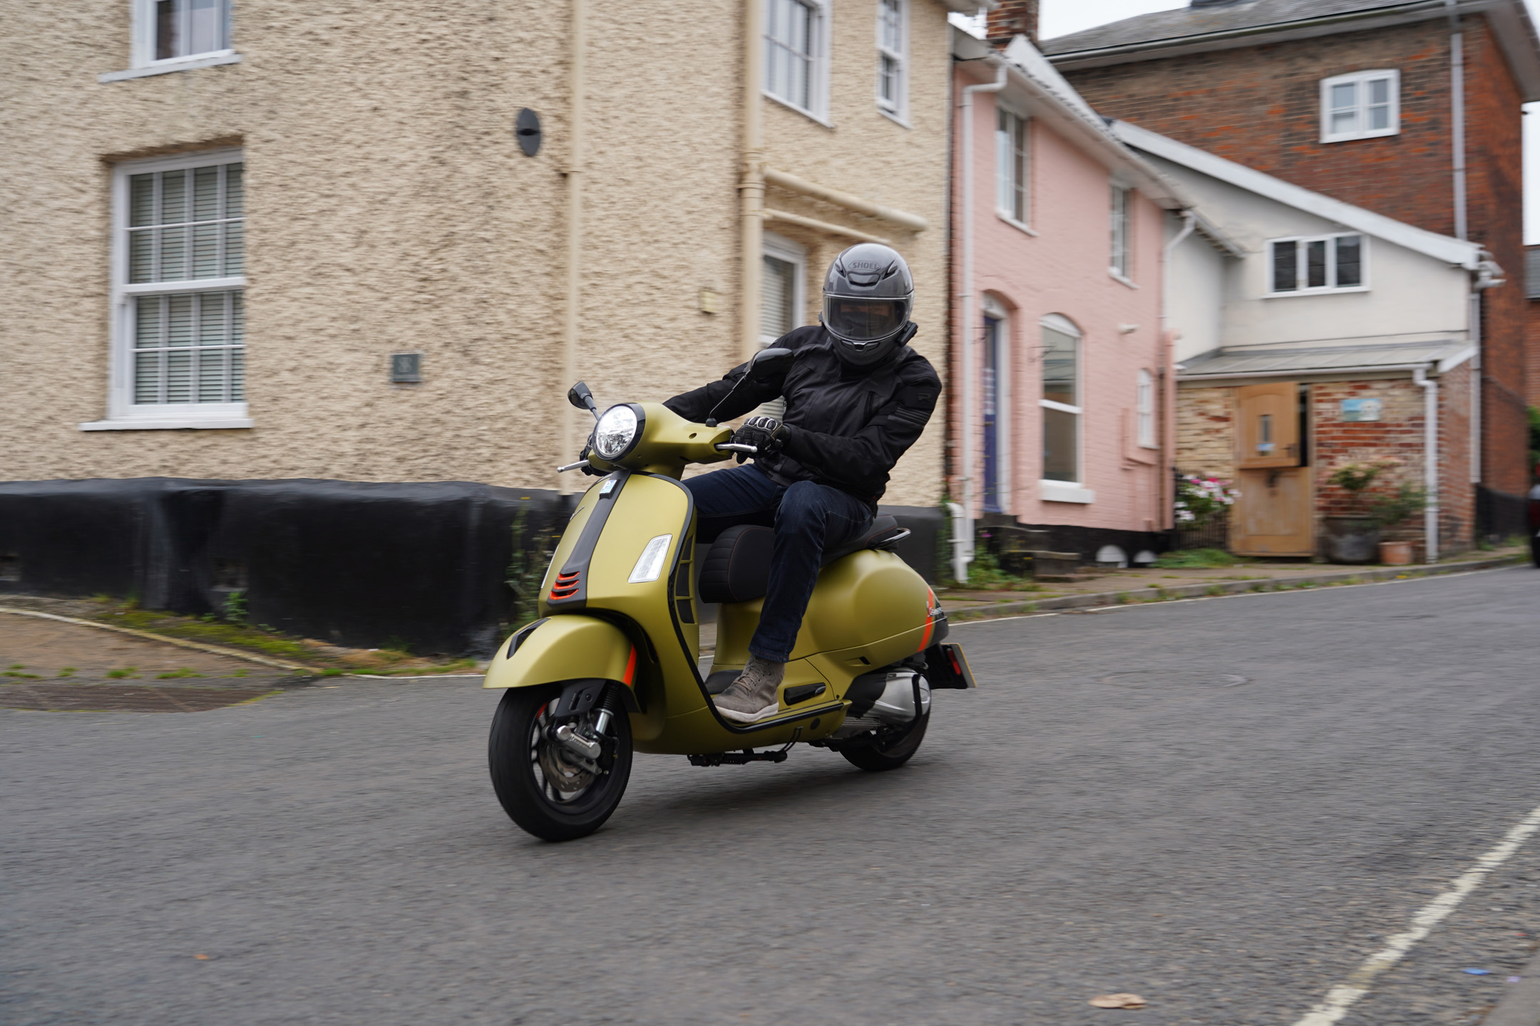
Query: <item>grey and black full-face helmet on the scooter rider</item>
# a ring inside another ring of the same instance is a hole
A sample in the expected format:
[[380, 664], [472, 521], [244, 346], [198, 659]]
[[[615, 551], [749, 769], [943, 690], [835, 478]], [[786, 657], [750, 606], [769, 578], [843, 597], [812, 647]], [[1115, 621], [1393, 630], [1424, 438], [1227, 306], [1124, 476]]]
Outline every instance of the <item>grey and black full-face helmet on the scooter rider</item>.
[[887, 360], [907, 341], [915, 278], [889, 246], [864, 242], [835, 257], [824, 277], [824, 329], [835, 352], [853, 366]]

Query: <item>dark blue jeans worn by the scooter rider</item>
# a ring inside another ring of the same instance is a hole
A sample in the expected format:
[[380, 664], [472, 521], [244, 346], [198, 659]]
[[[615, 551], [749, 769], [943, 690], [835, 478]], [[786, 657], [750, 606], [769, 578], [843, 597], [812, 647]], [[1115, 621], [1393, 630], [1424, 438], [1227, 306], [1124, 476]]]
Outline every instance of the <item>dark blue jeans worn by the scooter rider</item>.
[[691, 477], [684, 486], [695, 495], [701, 541], [741, 523], [775, 526], [770, 591], [748, 651], [773, 663], [787, 661], [824, 551], [856, 538], [872, 523], [872, 509], [827, 485], [796, 481], [782, 488], [753, 463]]

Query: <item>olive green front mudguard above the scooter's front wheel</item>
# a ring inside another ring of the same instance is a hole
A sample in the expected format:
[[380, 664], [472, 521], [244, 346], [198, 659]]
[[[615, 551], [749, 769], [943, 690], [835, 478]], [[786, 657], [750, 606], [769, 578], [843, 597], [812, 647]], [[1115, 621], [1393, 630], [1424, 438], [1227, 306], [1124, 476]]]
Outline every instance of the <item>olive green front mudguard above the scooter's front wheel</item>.
[[[514, 645], [517, 649], [510, 655]], [[487, 668], [482, 688], [533, 688], [585, 678], [633, 688], [636, 648], [613, 623], [567, 612], [508, 638]]]

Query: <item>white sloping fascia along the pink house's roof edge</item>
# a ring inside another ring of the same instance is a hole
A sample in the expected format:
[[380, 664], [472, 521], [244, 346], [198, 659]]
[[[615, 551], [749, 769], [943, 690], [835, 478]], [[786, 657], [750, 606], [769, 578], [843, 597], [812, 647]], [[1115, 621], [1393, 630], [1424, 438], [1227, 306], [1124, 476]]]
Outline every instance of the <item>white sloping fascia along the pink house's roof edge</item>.
[[1004, 65], [1009, 71], [1007, 88], [1016, 86], [1024, 92], [1029, 102], [1033, 102], [1035, 115], [1046, 115], [1046, 120], [1078, 137], [1109, 168], [1126, 172], [1130, 183], [1150, 200], [1167, 209], [1192, 206], [1192, 200], [1181, 192], [1177, 183], [1112, 134], [1107, 122], [1075, 92], [1075, 88], [1027, 42], [1026, 35], [1012, 40], [1004, 58], [990, 54], [979, 63], [990, 69]]

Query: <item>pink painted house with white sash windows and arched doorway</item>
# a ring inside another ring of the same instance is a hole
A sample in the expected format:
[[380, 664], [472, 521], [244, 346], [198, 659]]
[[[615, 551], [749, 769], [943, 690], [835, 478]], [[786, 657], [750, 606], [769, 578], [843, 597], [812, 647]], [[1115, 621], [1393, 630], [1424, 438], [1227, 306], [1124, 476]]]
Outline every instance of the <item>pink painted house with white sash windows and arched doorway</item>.
[[1161, 257], [1187, 203], [1027, 37], [955, 31], [953, 57], [955, 575], [964, 520], [990, 548], [1133, 560], [1170, 526]]

